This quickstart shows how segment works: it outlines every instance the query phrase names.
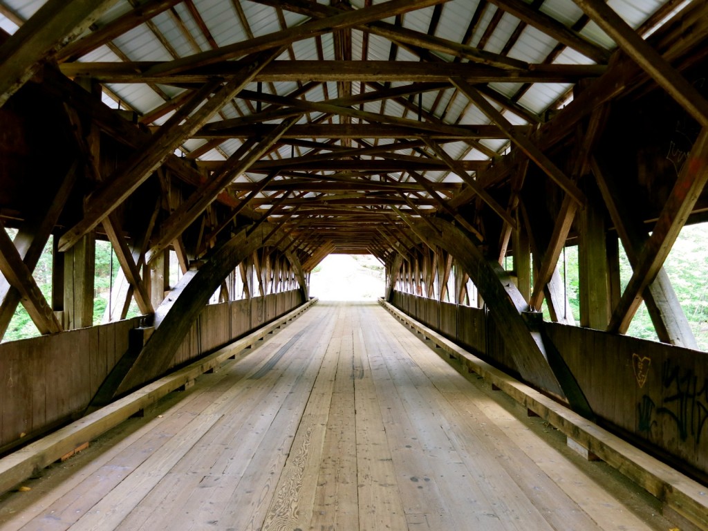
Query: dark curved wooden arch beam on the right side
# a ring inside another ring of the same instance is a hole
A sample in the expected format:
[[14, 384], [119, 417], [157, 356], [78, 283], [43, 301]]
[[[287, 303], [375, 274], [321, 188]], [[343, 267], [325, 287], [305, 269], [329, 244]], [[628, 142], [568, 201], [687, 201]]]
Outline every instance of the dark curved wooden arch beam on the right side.
[[487, 260], [461, 229], [442, 219], [430, 218], [436, 232], [423, 222], [409, 219], [410, 227], [429, 246], [439, 246], [457, 258], [484, 298], [497, 321], [505, 327], [504, 341], [521, 377], [552, 394], [564, 397], [586, 418], [593, 411], [568, 366], [542, 330], [524, 312], [529, 307], [509, 275], [496, 260]]

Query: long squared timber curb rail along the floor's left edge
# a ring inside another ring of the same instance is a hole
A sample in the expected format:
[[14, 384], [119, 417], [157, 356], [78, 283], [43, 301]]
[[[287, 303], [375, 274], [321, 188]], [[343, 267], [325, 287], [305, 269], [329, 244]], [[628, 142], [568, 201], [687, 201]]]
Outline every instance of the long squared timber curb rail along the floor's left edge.
[[261, 339], [275, 329], [296, 319], [307, 309], [312, 307], [318, 299], [310, 299], [307, 303], [297, 307], [275, 321], [263, 326], [248, 336], [229, 343], [205, 358], [197, 360], [170, 375], [160, 378], [142, 389], [138, 389], [113, 404], [94, 411], [79, 419], [69, 426], [57, 430], [51, 435], [23, 447], [21, 450], [0, 459], [0, 493], [4, 493], [20, 484], [28, 477], [35, 474], [76, 447], [93, 440], [102, 433], [118, 426], [122, 421], [134, 415], [141, 409], [161, 399], [175, 389], [192, 382], [196, 377], [208, 370], [219, 367], [225, 360], [239, 353], [245, 348], [254, 346]]

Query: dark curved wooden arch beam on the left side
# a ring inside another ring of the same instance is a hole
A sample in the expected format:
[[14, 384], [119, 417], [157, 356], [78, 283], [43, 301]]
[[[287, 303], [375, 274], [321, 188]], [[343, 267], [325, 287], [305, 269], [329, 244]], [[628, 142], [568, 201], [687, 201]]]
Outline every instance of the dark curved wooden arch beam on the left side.
[[[278, 241], [282, 238], [282, 247], [290, 244], [290, 238], [283, 238], [280, 230], [274, 234], [272, 224], [263, 223], [249, 234], [249, 227], [223, 244], [209, 260], [198, 270], [188, 271], [183, 275], [178, 285], [166, 297], [155, 311], [155, 331], [147, 344], [139, 353], [135, 363], [118, 385], [113, 396], [120, 396], [140, 384], [164, 373], [172, 360], [175, 350], [180, 346], [193, 322], [209, 302], [212, 293], [222, 280], [244, 261], [254, 251], [265, 246], [264, 238]], [[270, 237], [269, 237], [270, 236]], [[302, 265], [297, 257], [288, 251], [286, 258], [290, 261], [297, 281], [302, 290], [304, 300], [307, 300], [307, 282]]]

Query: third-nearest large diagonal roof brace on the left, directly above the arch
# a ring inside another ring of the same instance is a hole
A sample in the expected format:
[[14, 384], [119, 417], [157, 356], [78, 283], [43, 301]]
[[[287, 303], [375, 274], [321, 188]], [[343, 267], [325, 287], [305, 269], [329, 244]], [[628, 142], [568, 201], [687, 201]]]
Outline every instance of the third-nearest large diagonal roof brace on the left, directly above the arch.
[[[273, 147], [273, 144], [278, 142], [282, 134], [287, 131], [289, 127], [292, 127], [297, 120], [299, 120], [299, 117], [285, 120], [278, 125], [270, 135], [263, 138], [261, 142], [256, 143], [253, 141], [255, 145], [253, 145], [248, 152], [243, 153], [239, 149], [234, 156], [226, 161], [222, 169], [212, 176], [210, 181], [207, 181], [204, 185], [195, 190], [187, 200], [183, 201], [177, 210], [162, 224], [160, 235], [148, 253], [148, 263], [152, 256], [156, 256], [167, 249], [171, 241], [197, 219], [207, 205], [210, 205], [216, 196], [234, 180], [235, 176], [247, 171], [251, 164], [268, 152], [268, 150]], [[250, 146], [250, 143], [244, 144], [244, 146]]]

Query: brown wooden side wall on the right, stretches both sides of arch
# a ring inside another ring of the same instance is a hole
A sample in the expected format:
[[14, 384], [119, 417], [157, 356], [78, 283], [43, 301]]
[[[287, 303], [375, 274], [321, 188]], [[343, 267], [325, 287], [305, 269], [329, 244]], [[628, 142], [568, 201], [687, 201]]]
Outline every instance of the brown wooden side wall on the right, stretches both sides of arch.
[[[392, 303], [518, 376], [503, 323], [491, 314], [402, 292]], [[708, 353], [579, 326], [547, 322], [543, 330], [600, 425], [708, 483]]]

